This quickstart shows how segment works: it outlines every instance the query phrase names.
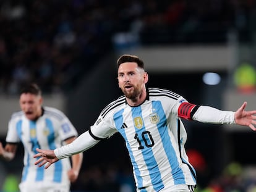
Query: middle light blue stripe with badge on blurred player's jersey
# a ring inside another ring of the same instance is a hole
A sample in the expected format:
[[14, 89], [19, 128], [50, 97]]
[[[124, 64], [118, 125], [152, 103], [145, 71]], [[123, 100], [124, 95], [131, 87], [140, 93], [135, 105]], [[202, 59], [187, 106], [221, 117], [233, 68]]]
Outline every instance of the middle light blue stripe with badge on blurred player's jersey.
[[[40, 145], [38, 143], [38, 139], [36, 137], [36, 122], [30, 120], [29, 121], [29, 130], [30, 130], [30, 141], [32, 144], [32, 151], [34, 152], [34, 154], [37, 153], [36, 148], [40, 148]], [[35, 135], [33, 134], [35, 133]], [[28, 156], [28, 159], [30, 159], [30, 156]], [[29, 164], [28, 164], [29, 165]], [[43, 180], [43, 177], [45, 175], [45, 170], [43, 169], [43, 167], [36, 167], [36, 178], [35, 181], [36, 182], [40, 182]]]

